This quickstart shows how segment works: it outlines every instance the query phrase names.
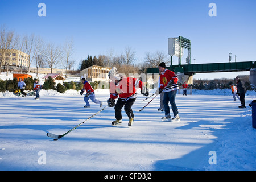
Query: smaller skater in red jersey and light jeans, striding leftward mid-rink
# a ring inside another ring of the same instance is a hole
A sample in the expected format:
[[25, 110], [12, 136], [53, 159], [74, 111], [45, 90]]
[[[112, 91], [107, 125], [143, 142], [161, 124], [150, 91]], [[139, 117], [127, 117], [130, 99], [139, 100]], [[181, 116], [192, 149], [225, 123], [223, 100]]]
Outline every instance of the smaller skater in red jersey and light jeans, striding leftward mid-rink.
[[90, 107], [90, 103], [88, 102], [89, 99], [92, 100], [94, 103], [99, 104], [101, 107], [102, 102], [95, 98], [95, 92], [94, 92], [92, 86], [90, 86], [89, 82], [86, 81], [85, 78], [82, 78], [81, 82], [82, 82], [82, 84], [84, 84], [84, 87], [82, 88], [80, 95], [82, 96], [82, 94], [84, 94], [84, 92], [86, 91], [86, 94], [84, 96], [84, 101], [85, 101], [86, 105], [84, 107], [85, 108]]

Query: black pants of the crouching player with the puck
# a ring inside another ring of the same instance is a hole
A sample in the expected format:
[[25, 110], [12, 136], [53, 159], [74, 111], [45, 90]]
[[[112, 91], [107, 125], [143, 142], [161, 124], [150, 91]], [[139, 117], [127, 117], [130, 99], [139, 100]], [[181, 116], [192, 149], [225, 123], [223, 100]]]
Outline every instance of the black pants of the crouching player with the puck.
[[120, 98], [117, 100], [117, 104], [115, 104], [115, 119], [121, 120], [122, 119], [122, 108], [125, 106], [125, 112], [129, 119], [134, 118], [133, 110], [131, 106], [133, 106], [136, 98], [130, 98], [127, 101], [122, 101]]

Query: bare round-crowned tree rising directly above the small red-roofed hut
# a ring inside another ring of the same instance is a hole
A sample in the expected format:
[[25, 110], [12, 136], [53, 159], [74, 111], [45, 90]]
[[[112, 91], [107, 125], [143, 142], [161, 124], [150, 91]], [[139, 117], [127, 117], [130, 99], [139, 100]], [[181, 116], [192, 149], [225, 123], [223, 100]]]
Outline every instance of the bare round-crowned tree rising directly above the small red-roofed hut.
[[49, 43], [44, 53], [44, 60], [49, 65], [49, 68], [51, 68], [51, 73], [53, 67], [59, 64], [62, 58], [63, 50], [60, 48], [60, 46], [55, 46], [53, 43]]

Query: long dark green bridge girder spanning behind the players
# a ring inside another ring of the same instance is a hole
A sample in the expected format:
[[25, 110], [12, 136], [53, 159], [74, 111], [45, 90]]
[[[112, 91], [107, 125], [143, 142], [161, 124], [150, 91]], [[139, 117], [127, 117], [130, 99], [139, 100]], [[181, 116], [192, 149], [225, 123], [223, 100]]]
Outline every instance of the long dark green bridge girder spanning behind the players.
[[[183, 64], [171, 65], [167, 67], [175, 73], [184, 73], [185, 75], [195, 75], [195, 73], [213, 73], [213, 72], [241, 72], [250, 71], [256, 68], [256, 61], [236, 62], [236, 63], [207, 63], [207, 64]], [[158, 68], [147, 68], [147, 73], [159, 73]]]

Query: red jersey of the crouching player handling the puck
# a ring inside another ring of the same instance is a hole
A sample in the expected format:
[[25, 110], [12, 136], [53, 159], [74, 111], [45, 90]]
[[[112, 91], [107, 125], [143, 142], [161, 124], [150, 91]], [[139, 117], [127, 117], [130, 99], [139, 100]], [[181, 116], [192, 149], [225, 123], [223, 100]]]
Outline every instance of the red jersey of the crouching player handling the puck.
[[143, 88], [144, 84], [141, 80], [132, 77], [123, 77], [117, 84], [110, 82], [110, 98], [119, 98], [127, 101], [129, 98], [137, 98], [137, 89]]

